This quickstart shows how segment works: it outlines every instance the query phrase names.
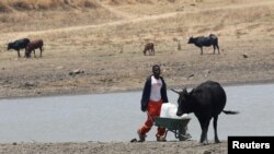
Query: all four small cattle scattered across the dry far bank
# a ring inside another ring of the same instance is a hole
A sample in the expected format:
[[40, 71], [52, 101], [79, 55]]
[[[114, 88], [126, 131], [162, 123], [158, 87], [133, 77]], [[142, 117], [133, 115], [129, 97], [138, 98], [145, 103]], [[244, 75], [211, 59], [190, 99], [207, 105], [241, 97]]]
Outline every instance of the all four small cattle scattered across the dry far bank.
[[[190, 37], [187, 44], [194, 44], [195, 46], [199, 47], [201, 55], [203, 55], [203, 47], [204, 46], [205, 47], [213, 46], [214, 54], [215, 54], [215, 49], [218, 49], [218, 54], [220, 54], [219, 52], [219, 45], [218, 45], [218, 37], [214, 34], [210, 34], [207, 37], [205, 37], [205, 36]], [[24, 57], [30, 58], [32, 51], [34, 54], [34, 57], [36, 57], [35, 49], [39, 49], [39, 51], [41, 51], [39, 57], [42, 57], [43, 46], [44, 46], [43, 39], [30, 40], [28, 38], [22, 38], [22, 39], [18, 39], [18, 40], [14, 40], [12, 43], [9, 43], [8, 50], [14, 49], [18, 51], [18, 57], [21, 57], [20, 50], [25, 49]], [[144, 56], [146, 56], [147, 52], [149, 56], [155, 56], [155, 44], [147, 43], [145, 45], [142, 52], [144, 52]]]

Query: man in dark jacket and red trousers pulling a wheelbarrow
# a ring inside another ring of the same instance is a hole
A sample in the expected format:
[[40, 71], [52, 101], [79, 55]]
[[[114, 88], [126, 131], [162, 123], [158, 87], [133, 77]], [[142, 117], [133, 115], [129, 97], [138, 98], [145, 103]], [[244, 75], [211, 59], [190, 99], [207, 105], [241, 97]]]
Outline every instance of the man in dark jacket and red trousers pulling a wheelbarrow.
[[[146, 140], [146, 133], [152, 128], [155, 118], [160, 116], [162, 104], [169, 102], [167, 96], [167, 85], [160, 74], [160, 66], [155, 64], [152, 67], [152, 75], [147, 79], [144, 86], [140, 104], [141, 111], [147, 112], [147, 121], [137, 131], [139, 142], [144, 142]], [[159, 127], [156, 134], [157, 141], [165, 141], [164, 133], [165, 128]]]

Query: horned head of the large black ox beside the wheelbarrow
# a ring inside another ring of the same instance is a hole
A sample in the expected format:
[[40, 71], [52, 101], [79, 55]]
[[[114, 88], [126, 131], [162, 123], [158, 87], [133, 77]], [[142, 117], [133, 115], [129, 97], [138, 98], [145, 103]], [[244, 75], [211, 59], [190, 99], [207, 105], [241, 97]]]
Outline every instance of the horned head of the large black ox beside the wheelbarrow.
[[182, 116], [183, 114], [191, 112], [191, 104], [190, 104], [191, 97], [186, 88], [183, 88], [182, 92], [178, 92], [175, 90], [171, 90], [171, 91], [179, 94], [176, 116]]

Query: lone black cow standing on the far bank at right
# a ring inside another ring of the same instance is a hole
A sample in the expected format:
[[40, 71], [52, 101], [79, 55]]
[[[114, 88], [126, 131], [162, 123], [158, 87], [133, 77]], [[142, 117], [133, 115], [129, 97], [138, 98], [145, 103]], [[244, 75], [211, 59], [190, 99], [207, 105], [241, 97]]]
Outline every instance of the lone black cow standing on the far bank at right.
[[218, 45], [218, 37], [214, 34], [210, 34], [208, 37], [205, 36], [199, 36], [199, 37], [191, 37], [189, 39], [187, 44], [194, 44], [195, 46], [201, 48], [201, 55], [203, 55], [203, 46], [209, 47], [213, 45], [214, 48], [214, 54], [215, 54], [215, 49], [218, 49], [218, 54], [220, 54], [219, 51], [219, 45]]

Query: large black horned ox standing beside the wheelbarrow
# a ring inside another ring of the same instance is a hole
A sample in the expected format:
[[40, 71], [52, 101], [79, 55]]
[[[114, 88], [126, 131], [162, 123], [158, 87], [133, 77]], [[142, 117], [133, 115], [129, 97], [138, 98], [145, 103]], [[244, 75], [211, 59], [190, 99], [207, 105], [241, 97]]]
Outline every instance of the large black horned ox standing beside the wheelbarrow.
[[224, 110], [227, 97], [220, 84], [214, 81], [207, 81], [199, 84], [196, 88], [193, 88], [190, 93], [186, 88], [182, 92], [172, 91], [179, 94], [176, 115], [182, 116], [183, 114], [194, 112], [197, 117], [202, 129], [199, 142], [203, 144], [208, 143], [208, 126], [212, 118], [214, 118], [215, 143], [219, 143], [220, 141], [217, 134], [218, 115], [221, 111], [230, 115], [238, 114], [237, 111]]

